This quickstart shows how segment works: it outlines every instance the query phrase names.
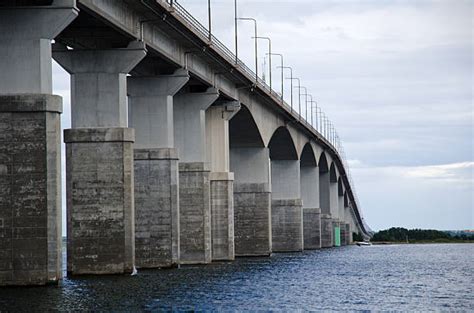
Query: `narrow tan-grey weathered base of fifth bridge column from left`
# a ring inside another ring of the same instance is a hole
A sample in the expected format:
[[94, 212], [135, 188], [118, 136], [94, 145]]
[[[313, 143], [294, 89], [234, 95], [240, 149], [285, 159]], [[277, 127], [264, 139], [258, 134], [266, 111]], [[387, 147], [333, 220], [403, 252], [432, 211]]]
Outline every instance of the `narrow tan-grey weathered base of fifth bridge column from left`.
[[211, 172], [212, 260], [235, 259], [234, 175]]

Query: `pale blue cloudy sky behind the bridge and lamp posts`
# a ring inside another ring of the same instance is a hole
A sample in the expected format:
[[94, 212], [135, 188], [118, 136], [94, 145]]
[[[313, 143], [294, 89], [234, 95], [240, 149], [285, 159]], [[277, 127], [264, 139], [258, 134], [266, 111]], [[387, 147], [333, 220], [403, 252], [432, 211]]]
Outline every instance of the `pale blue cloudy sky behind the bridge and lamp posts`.
[[[178, 2], [207, 27], [206, 0]], [[474, 229], [474, 1], [238, 3], [336, 126], [373, 230]], [[211, 4], [213, 34], [234, 51], [233, 1]], [[239, 58], [254, 68], [253, 24], [238, 25]], [[258, 48], [263, 72], [268, 43]], [[69, 128], [69, 77], [57, 64], [53, 88]], [[289, 103], [288, 81], [284, 94]]]

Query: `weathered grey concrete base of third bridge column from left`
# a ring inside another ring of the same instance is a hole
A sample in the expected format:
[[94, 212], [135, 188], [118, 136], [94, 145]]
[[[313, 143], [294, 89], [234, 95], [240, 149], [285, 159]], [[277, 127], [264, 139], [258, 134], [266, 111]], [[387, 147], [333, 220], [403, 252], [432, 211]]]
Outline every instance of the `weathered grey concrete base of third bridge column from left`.
[[175, 149], [135, 149], [135, 263], [179, 262], [178, 157]]

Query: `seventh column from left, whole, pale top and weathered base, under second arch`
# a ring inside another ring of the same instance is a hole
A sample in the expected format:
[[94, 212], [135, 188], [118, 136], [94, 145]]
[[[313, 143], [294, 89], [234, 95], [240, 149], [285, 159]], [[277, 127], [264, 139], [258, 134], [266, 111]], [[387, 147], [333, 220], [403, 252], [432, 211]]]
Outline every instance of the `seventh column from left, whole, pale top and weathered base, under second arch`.
[[274, 252], [303, 250], [300, 161], [272, 160], [272, 247]]

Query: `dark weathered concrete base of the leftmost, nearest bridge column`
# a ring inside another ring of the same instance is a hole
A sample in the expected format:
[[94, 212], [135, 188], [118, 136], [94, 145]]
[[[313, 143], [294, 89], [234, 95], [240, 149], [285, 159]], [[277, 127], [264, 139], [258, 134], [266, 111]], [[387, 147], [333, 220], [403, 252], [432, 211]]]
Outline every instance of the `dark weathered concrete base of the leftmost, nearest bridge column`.
[[0, 95], [0, 286], [61, 279], [62, 99]]

